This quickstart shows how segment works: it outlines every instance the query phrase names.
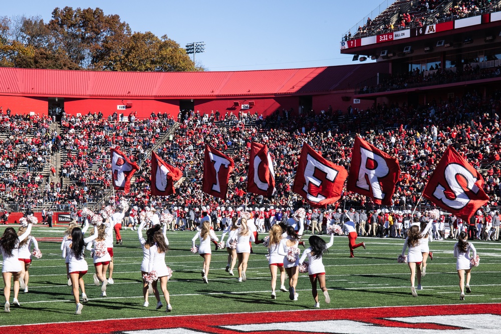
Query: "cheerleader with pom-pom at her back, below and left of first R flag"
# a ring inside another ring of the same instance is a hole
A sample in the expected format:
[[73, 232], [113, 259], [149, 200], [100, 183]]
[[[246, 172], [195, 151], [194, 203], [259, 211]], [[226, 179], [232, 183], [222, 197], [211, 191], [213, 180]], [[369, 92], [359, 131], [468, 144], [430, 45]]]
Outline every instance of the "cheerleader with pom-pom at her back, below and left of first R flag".
[[92, 243], [89, 242], [87, 249], [90, 250], [91, 247], [94, 247], [93, 260], [94, 268], [96, 269], [96, 273], [93, 276], [94, 284], [99, 286], [102, 282], [101, 296], [106, 297], [106, 285], [108, 284], [106, 271], [111, 261], [110, 253], [108, 253], [106, 247], [106, 225], [101, 224], [95, 228], [98, 231], [97, 237], [95, 239], [90, 238]]

